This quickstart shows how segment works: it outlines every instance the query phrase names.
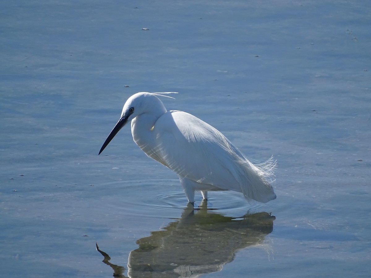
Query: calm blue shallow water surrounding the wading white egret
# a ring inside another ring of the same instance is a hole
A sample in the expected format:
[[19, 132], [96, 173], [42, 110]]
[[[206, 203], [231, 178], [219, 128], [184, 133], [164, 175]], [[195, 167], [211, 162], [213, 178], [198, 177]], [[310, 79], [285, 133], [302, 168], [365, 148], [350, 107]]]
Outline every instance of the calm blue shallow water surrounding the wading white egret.
[[[1, 274], [369, 277], [368, 1], [135, 5], [1, 4]], [[98, 156], [139, 91], [274, 155], [277, 199], [187, 208], [129, 126]]]

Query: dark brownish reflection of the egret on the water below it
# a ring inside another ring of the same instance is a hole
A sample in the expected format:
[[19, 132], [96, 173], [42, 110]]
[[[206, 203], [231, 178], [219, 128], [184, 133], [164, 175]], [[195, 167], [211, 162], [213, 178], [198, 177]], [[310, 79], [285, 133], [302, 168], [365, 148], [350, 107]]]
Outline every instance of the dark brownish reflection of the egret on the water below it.
[[262, 244], [276, 219], [267, 212], [233, 218], [209, 211], [206, 202], [198, 209], [187, 206], [164, 230], [138, 239], [139, 248], [129, 254], [128, 276], [198, 277], [220, 271], [238, 250]]

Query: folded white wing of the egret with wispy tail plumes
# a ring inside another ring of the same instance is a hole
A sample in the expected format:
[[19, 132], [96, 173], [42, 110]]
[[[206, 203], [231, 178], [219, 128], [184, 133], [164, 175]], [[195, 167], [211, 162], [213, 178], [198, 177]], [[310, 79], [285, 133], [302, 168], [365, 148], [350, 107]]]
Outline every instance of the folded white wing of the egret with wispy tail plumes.
[[275, 198], [269, 184], [276, 166], [272, 158], [254, 165], [217, 129], [181, 111], [165, 113], [153, 131], [158, 148], [151, 157], [179, 176], [242, 192], [247, 200]]

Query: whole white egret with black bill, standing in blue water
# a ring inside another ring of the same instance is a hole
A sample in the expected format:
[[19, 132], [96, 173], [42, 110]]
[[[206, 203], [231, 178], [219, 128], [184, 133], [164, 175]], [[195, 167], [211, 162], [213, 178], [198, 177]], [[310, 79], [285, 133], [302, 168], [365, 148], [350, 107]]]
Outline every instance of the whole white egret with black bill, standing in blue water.
[[99, 154], [131, 121], [134, 142], [178, 175], [188, 202], [194, 203], [195, 191], [207, 199], [208, 191], [219, 190], [242, 192], [247, 201], [276, 199], [269, 183], [276, 161], [253, 164], [209, 124], [183, 111], [167, 111], [157, 97], [167, 93], [140, 92], [129, 97]]

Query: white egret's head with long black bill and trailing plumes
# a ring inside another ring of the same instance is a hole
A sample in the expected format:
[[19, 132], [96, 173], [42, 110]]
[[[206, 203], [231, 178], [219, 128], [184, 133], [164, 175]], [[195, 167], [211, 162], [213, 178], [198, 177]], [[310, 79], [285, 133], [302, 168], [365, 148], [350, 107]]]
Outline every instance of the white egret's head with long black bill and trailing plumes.
[[[168, 92], [170, 93], [170, 92]], [[143, 114], [143, 113], [158, 113], [164, 111], [166, 109], [162, 102], [157, 98], [161, 94], [167, 93], [147, 93], [141, 92], [136, 93], [128, 98], [125, 102], [124, 107], [122, 108], [122, 113], [119, 121], [116, 123], [115, 127], [112, 129], [111, 133], [109, 133], [107, 139], [105, 140], [99, 154], [106, 148], [109, 142], [115, 137], [115, 135], [119, 132], [120, 129], [124, 127], [128, 122], [130, 122], [135, 117]], [[159, 109], [160, 106], [160, 109]]]

